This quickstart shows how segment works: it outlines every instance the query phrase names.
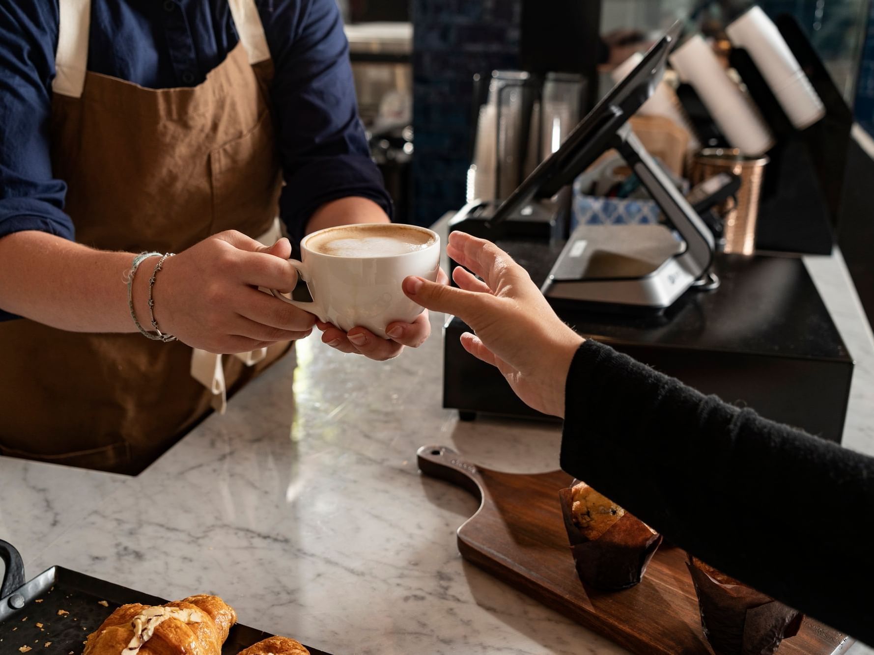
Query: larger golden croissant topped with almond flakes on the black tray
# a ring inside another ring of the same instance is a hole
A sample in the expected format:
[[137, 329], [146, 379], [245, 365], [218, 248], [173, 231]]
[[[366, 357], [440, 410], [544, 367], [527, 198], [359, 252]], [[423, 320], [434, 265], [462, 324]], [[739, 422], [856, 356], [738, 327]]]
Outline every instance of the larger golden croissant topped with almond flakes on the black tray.
[[236, 622], [237, 613], [218, 596], [121, 605], [88, 635], [82, 655], [221, 655]]

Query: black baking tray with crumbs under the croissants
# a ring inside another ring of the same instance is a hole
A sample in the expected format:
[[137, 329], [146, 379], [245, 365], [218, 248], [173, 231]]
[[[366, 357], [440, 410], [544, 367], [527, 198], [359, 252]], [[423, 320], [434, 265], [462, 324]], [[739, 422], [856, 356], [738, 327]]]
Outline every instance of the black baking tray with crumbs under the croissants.
[[[167, 603], [164, 598], [60, 566], [25, 583], [21, 555], [2, 540], [0, 559], [6, 565], [0, 581], [0, 655], [18, 655], [24, 646], [31, 648], [28, 655], [80, 655], [87, 636], [121, 605]], [[222, 655], [237, 655], [268, 637], [273, 635], [236, 624]], [[307, 648], [312, 655], [329, 655], [312, 646]]]

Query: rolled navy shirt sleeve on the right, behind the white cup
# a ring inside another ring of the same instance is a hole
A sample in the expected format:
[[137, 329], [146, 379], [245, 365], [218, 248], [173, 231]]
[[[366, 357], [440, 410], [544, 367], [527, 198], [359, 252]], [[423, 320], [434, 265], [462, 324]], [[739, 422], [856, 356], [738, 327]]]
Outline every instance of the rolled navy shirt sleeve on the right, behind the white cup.
[[336, 0], [259, 3], [274, 59], [272, 87], [285, 187], [280, 213], [300, 239], [324, 203], [362, 196], [392, 216], [358, 118], [349, 45]]

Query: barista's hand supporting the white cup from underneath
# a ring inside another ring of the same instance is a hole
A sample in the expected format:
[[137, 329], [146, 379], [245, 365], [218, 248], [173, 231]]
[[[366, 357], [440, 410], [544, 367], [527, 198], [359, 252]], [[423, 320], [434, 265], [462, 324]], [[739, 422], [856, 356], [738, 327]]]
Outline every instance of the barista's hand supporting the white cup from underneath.
[[[440, 269], [437, 273], [435, 286], [446, 286], [449, 281], [447, 274]], [[357, 353], [370, 359], [382, 362], [400, 355], [404, 346], [419, 348], [431, 334], [431, 321], [428, 321], [427, 309], [419, 314], [412, 323], [389, 323], [386, 332], [391, 339], [383, 339], [373, 334], [365, 327], [353, 327], [348, 333], [331, 323], [316, 321], [316, 327], [322, 330], [322, 341], [331, 348], [343, 353]]]

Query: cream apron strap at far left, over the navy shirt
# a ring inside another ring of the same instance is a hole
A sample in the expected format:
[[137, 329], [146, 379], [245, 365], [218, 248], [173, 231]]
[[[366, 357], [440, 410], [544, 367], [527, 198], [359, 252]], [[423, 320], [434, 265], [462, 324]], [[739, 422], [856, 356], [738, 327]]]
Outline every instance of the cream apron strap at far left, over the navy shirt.
[[52, 92], [81, 98], [88, 65], [91, 0], [60, 0], [59, 10], [58, 50], [55, 52]]

